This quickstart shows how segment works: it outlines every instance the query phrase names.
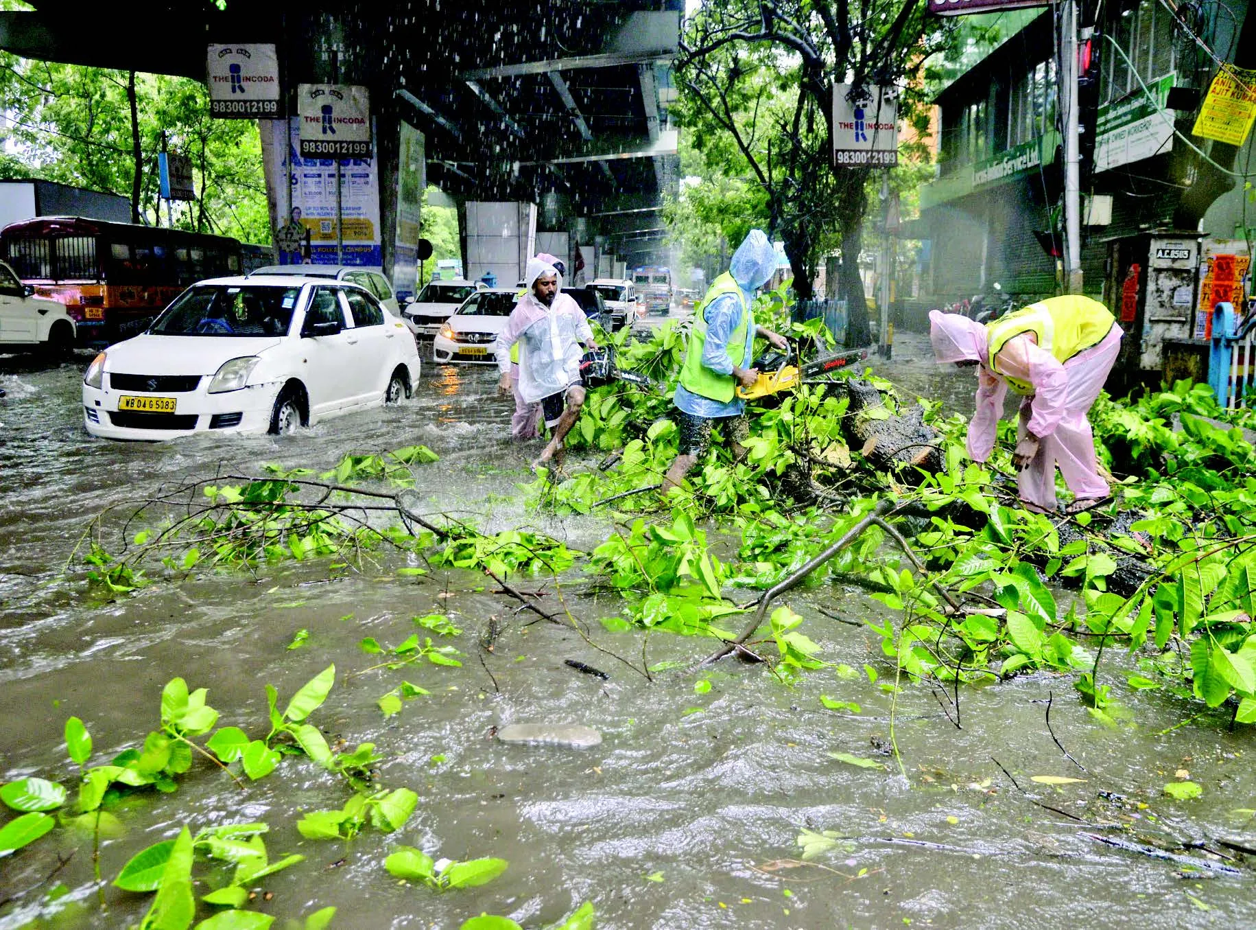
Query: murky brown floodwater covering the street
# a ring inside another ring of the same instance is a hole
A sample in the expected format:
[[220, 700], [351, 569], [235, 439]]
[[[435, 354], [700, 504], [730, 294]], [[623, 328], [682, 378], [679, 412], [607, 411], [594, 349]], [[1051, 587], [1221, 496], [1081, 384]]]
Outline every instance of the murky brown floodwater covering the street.
[[[926, 352], [927, 341], [901, 336], [896, 362], [873, 364], [901, 377], [908, 393], [942, 392], [948, 406], [962, 408], [965, 398], [971, 405], [971, 373], [938, 372]], [[142, 744], [157, 725], [161, 687], [176, 675], [208, 687], [220, 725], [264, 736], [265, 685], [286, 701], [335, 662], [335, 687], [311, 721], [332, 740], [374, 743], [383, 757], [379, 784], [420, 796], [416, 814], [396, 834], [368, 828], [352, 842], [306, 841], [296, 819], [339, 808], [349, 797], [343, 780], [289, 757], [240, 790], [197, 759], [177, 793], [132, 794], [113, 809], [124, 832], [102, 843], [106, 882], [134, 852], [182, 824], [195, 833], [265, 821], [273, 860], [305, 856], [265, 878], [250, 905], [275, 915], [276, 926], [334, 905], [333, 926], [354, 930], [453, 930], [481, 911], [540, 927], [582, 901], [593, 901], [599, 927], [619, 930], [1256, 922], [1251, 872], [1182, 877], [1173, 862], [1103, 846], [1084, 836], [1090, 827], [1035, 806], [1000, 770], [1042, 803], [1102, 828], [1133, 824], [1153, 840], [1211, 845], [1222, 837], [1256, 846], [1245, 812], [1256, 807], [1251, 729], [1227, 733], [1222, 714], [1176, 728], [1199, 708], [1128, 689], [1119, 669], [1132, 666], [1119, 657], [1105, 664], [1128, 711], [1117, 729], [1094, 720], [1069, 679], [1053, 675], [961, 689], [957, 729], [936, 687], [906, 685], [894, 706], [883, 689], [893, 681], [893, 664], [878, 636], [858, 625], [892, 615], [854, 588], [830, 586], [788, 599], [806, 617], [823, 657], [849, 666], [813, 672], [794, 686], [764, 666], [727, 660], [705, 675], [679, 670], [648, 681], [619, 659], [690, 662], [712, 643], [605, 632], [598, 618], [622, 603], [590, 596], [579, 577], [568, 577], [561, 594], [589, 623], [594, 646], [569, 627], [515, 613], [514, 602], [481, 576], [398, 576], [404, 557], [386, 550], [363, 573], [333, 582], [325, 564], [303, 563], [259, 577], [193, 573], [116, 599], [93, 597], [72, 555], [92, 517], [220, 468], [324, 469], [349, 451], [423, 442], [441, 456], [417, 469], [431, 512], [476, 514], [495, 529], [529, 524], [583, 549], [605, 539], [609, 525], [556, 520], [515, 500], [515, 484], [529, 480], [528, 452], [507, 441], [510, 401], [496, 398], [487, 368], [431, 366], [417, 397], [399, 408], [281, 440], [148, 445], [83, 432], [79, 378], [87, 361], [44, 367], [0, 358], [8, 393], [0, 398], [0, 775], [73, 784], [62, 744], [65, 718], [85, 721], [93, 764], [100, 764]], [[544, 587], [543, 603], [558, 599], [553, 584], [519, 586]], [[396, 645], [413, 632], [412, 616], [430, 612], [446, 612], [463, 627], [453, 640], [462, 667], [363, 671], [379, 656], [359, 651], [362, 637]], [[505, 632], [485, 654], [477, 641], [490, 617]], [[308, 640], [286, 648], [298, 630]], [[609, 680], [579, 674], [566, 659]], [[702, 679], [710, 691], [695, 689]], [[431, 695], [384, 719], [376, 701], [403, 680]], [[854, 701], [859, 713], [826, 710], [821, 695]], [[1053, 696], [1050, 726], [1085, 770], [1064, 757], [1048, 729]], [[585, 750], [505, 745], [492, 733], [509, 723], [584, 724], [604, 741]], [[892, 735], [906, 777], [882, 753]], [[882, 767], [858, 768], [829, 753]], [[1162, 793], [1164, 783], [1187, 777], [1181, 769], [1202, 785], [1201, 798], [1178, 802]], [[1034, 775], [1080, 780], [1056, 787]], [[801, 828], [848, 838], [804, 865]], [[399, 845], [456, 860], [500, 856], [510, 867], [482, 887], [437, 895], [384, 871], [384, 857]], [[58, 870], [59, 856], [70, 852]], [[90, 840], [70, 828], [4, 860], [0, 930], [138, 922], [151, 896], [107, 886], [102, 911], [92, 872]], [[203, 895], [226, 873], [198, 857], [195, 876]], [[64, 894], [50, 902], [58, 885]], [[198, 916], [210, 911], [201, 905]]]

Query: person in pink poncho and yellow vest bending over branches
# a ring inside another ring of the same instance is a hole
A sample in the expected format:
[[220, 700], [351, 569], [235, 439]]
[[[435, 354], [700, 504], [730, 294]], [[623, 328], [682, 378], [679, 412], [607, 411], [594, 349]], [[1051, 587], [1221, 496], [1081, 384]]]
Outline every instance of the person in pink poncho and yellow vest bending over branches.
[[1029, 509], [1055, 510], [1056, 465], [1074, 495], [1068, 513], [1108, 498], [1086, 413], [1117, 361], [1120, 337], [1107, 307], [1076, 294], [1039, 300], [985, 326], [958, 313], [929, 313], [938, 363], [981, 367], [968, 421], [973, 461], [985, 461], [995, 447], [1007, 390], [1021, 396], [1012, 461]]

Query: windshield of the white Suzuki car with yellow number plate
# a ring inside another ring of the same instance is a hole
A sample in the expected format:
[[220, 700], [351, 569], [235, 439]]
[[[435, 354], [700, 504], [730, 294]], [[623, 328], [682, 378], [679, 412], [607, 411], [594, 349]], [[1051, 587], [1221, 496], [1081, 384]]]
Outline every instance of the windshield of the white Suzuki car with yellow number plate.
[[160, 336], [284, 336], [300, 288], [198, 284], [166, 308], [149, 329]]

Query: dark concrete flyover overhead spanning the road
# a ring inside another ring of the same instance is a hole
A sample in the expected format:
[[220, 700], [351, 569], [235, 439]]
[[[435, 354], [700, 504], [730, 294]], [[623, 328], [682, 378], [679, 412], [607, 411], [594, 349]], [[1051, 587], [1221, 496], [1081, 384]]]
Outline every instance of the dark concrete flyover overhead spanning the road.
[[[682, 0], [30, 6], [0, 11], [0, 49], [205, 80], [207, 44], [274, 43], [289, 113], [299, 83], [367, 85], [386, 266], [402, 123], [423, 133], [427, 176], [456, 202], [535, 204], [540, 227], [573, 244], [629, 266], [661, 258], [659, 205], [677, 185], [667, 106]], [[278, 186], [268, 178], [273, 219], [285, 214]]]

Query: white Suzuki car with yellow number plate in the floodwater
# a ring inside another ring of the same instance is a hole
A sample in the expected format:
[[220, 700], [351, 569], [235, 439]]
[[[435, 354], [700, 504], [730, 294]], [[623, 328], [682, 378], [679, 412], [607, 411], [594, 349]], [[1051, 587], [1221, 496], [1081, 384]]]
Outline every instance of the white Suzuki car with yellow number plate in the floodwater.
[[355, 284], [214, 278], [95, 357], [83, 420], [108, 439], [284, 434], [397, 403], [420, 373], [406, 324]]

